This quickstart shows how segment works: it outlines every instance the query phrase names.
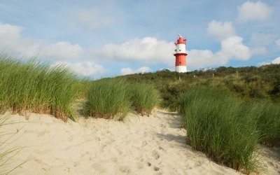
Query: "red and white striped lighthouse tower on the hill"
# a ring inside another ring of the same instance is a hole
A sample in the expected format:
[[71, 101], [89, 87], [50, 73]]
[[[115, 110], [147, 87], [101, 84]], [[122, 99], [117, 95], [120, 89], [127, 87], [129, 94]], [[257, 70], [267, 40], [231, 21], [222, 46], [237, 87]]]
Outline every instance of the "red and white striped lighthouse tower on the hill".
[[186, 56], [188, 55], [186, 53], [186, 39], [183, 38], [180, 34], [179, 39], [177, 39], [176, 50], [174, 53], [174, 56], [176, 57], [175, 62], [175, 71], [176, 72], [187, 72], [187, 66], [186, 66]]

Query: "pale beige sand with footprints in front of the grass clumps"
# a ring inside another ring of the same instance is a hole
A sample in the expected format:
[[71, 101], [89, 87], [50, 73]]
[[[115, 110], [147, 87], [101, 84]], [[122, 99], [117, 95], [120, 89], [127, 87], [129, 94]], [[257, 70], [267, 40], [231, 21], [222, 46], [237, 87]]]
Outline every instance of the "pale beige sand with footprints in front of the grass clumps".
[[[125, 122], [79, 118], [77, 123], [34, 113], [28, 121], [6, 115], [20, 121], [1, 128], [16, 133], [9, 146], [24, 146], [8, 168], [28, 160], [13, 174], [240, 174], [190, 148], [176, 113], [155, 109], [150, 117], [130, 113]], [[279, 174], [279, 155], [265, 149], [261, 174]]]

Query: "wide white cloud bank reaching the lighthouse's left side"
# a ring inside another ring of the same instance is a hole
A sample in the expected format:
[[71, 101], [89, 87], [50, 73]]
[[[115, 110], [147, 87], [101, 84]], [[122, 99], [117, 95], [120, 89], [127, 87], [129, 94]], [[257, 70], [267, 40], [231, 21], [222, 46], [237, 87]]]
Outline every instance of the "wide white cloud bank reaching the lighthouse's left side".
[[94, 55], [122, 61], [141, 60], [148, 64], [174, 62], [174, 43], [158, 41], [157, 38], [134, 38], [121, 45], [109, 43], [99, 50], [92, 50]]

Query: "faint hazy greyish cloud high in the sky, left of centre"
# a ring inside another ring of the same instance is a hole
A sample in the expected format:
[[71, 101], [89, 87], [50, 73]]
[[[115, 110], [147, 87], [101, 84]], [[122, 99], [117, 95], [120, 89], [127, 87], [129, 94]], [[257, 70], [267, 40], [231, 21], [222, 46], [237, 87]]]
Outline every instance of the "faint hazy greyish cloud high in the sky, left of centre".
[[78, 11], [78, 13], [73, 15], [73, 20], [85, 29], [93, 30], [97, 29], [98, 27], [111, 25], [114, 21], [116, 21], [107, 16], [106, 14], [108, 14], [108, 12], [99, 13], [98, 10], [85, 9], [80, 10]]

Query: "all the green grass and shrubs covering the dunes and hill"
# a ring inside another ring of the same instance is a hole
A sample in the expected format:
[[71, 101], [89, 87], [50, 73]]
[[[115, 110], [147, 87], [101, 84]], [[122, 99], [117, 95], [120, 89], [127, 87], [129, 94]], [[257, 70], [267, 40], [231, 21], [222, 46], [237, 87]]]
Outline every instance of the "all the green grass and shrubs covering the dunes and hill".
[[[75, 120], [72, 105], [82, 98], [85, 116], [124, 120], [129, 112], [149, 116], [160, 106], [181, 113], [195, 150], [249, 173], [258, 169], [258, 144], [280, 141], [279, 70], [275, 64], [188, 73], [163, 70], [90, 81], [64, 66], [2, 54], [0, 113], [10, 110], [27, 118], [31, 112], [48, 113], [66, 122]], [[3, 158], [0, 154], [0, 167]]]

